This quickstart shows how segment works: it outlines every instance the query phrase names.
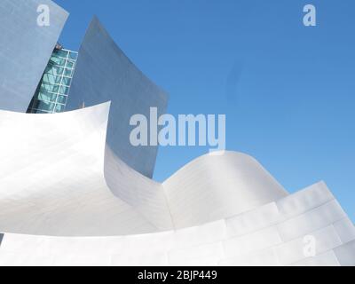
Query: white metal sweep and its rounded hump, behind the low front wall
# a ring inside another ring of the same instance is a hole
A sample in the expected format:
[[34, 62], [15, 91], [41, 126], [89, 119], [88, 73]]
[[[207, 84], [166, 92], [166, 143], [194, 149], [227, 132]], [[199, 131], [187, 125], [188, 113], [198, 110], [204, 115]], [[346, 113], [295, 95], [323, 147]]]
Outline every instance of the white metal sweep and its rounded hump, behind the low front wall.
[[108, 103], [45, 119], [0, 111], [0, 231], [160, 232], [233, 216], [287, 194], [253, 158], [227, 152], [201, 157], [156, 183], [106, 146], [108, 112]]

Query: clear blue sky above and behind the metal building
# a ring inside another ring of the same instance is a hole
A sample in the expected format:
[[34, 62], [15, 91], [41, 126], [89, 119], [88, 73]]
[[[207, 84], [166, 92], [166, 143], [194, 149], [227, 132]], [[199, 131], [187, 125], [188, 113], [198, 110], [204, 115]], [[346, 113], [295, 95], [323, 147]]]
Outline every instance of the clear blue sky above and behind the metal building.
[[[170, 114], [226, 114], [227, 149], [293, 193], [324, 180], [355, 221], [355, 1], [55, 0], [78, 50], [94, 14]], [[303, 8], [317, 8], [304, 27]], [[206, 147], [160, 148], [162, 181]]]

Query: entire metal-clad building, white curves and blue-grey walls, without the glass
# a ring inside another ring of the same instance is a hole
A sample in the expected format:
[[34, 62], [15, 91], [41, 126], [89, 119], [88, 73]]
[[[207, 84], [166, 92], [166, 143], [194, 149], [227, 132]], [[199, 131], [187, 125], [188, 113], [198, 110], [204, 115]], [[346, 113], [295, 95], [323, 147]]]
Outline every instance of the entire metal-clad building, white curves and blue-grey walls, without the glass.
[[[50, 27], [35, 27], [38, 4], [50, 6]], [[67, 12], [50, 0], [0, 8], [14, 15], [0, 17], [0, 108], [24, 112]], [[0, 111], [0, 265], [355, 265], [355, 227], [323, 182], [288, 194], [232, 152], [162, 184], [148, 178], [157, 147], [130, 146], [129, 120], [151, 106], [162, 114], [167, 96], [97, 19], [70, 98], [91, 107], [45, 119]]]

